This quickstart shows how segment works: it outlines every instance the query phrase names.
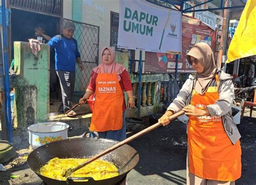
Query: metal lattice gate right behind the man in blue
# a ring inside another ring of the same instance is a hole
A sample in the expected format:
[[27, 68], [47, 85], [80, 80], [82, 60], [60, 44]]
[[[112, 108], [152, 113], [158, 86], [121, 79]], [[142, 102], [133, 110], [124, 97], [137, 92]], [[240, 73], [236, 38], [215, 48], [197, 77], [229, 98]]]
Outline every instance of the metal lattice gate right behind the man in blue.
[[72, 21], [76, 25], [73, 37], [77, 40], [78, 50], [84, 65], [83, 71], [80, 71], [78, 67], [76, 68], [75, 91], [85, 91], [89, 84], [92, 69], [99, 62], [99, 26], [70, 19], [63, 19], [63, 25], [66, 21]]

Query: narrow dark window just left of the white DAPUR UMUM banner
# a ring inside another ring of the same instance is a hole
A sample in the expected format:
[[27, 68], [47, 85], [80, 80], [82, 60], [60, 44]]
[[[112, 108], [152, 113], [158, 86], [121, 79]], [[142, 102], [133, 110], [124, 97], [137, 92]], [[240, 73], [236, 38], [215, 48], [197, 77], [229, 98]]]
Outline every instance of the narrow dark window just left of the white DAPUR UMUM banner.
[[118, 39], [119, 13], [110, 12], [110, 46], [116, 47]]

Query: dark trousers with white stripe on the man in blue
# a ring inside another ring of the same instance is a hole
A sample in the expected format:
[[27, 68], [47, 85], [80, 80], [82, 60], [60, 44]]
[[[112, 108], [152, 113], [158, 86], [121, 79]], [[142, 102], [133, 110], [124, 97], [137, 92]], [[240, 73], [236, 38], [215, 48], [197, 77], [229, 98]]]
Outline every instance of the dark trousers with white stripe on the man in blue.
[[56, 71], [59, 77], [60, 88], [62, 89], [62, 104], [59, 106], [59, 112], [68, 111], [71, 106], [71, 97], [74, 92], [76, 72], [75, 71]]

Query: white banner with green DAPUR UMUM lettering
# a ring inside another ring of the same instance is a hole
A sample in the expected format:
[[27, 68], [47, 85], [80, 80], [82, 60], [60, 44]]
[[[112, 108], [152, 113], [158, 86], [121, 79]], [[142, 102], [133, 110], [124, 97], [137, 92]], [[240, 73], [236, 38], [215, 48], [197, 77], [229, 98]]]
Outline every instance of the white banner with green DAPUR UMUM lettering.
[[117, 47], [181, 52], [181, 12], [146, 0], [120, 0]]

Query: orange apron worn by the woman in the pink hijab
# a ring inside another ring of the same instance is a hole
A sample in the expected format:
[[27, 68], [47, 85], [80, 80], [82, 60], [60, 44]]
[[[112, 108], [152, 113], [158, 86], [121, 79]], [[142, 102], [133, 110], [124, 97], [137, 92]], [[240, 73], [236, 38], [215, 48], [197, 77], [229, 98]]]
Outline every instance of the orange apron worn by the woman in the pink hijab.
[[96, 98], [91, 131], [117, 131], [123, 126], [124, 93], [116, 73], [101, 73], [96, 78]]

